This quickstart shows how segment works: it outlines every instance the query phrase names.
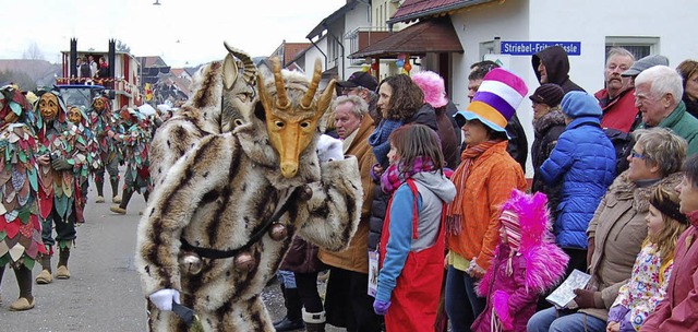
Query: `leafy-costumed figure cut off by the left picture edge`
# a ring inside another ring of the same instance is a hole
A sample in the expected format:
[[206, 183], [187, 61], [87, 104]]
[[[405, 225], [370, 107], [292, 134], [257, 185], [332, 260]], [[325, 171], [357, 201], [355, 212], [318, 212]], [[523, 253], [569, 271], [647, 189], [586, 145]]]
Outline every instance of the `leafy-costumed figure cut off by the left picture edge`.
[[28, 124], [32, 106], [20, 90], [0, 90], [0, 281], [10, 264], [20, 297], [10, 310], [34, 308], [32, 269], [39, 253], [41, 222], [36, 205], [36, 137]]

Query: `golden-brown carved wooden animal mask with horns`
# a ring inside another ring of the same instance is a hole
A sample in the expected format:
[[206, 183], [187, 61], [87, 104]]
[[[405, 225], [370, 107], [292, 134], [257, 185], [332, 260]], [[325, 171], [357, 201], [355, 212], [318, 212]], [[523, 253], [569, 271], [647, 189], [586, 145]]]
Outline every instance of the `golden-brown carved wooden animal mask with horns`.
[[272, 63], [274, 84], [265, 85], [260, 76], [257, 90], [264, 106], [269, 143], [279, 154], [281, 175], [292, 178], [298, 171], [300, 155], [313, 141], [317, 122], [332, 103], [335, 80], [327, 84], [320, 96], [315, 96], [322, 75], [320, 59], [315, 61], [310, 84], [281, 73], [278, 58], [273, 58]]

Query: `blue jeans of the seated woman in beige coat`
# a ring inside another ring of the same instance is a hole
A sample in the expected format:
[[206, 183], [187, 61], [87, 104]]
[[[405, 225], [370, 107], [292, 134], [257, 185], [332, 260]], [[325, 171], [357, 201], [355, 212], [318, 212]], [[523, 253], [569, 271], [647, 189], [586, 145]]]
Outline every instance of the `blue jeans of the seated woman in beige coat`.
[[529, 332], [605, 332], [606, 322], [577, 310], [547, 308], [535, 312], [526, 328]]

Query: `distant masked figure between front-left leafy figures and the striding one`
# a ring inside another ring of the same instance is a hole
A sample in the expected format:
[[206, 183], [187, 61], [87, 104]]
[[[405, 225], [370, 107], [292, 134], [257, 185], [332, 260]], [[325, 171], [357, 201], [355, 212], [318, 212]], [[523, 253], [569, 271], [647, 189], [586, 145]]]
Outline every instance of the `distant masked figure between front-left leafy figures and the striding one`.
[[109, 182], [111, 183], [111, 201], [121, 203], [119, 195], [119, 161], [121, 159], [121, 151], [113, 141], [117, 133], [115, 118], [111, 112], [109, 99], [105, 96], [95, 97], [92, 100], [92, 109], [89, 110], [91, 128], [99, 142], [99, 158], [101, 167], [94, 171], [95, 187], [97, 187], [96, 203], [105, 202], [105, 170], [109, 173]]

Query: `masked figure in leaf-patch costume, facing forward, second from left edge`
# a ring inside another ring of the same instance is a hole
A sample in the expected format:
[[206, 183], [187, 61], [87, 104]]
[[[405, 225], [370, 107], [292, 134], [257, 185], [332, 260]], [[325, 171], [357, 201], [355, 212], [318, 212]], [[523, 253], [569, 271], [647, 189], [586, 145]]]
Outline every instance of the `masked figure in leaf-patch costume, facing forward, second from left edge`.
[[[38, 203], [41, 216], [41, 238], [48, 253], [41, 257], [43, 270], [37, 284], [53, 282], [51, 257], [58, 246], [59, 260], [56, 277], [70, 278], [68, 259], [75, 241], [76, 176], [86, 162], [84, 138], [77, 127], [67, 120], [65, 103], [57, 91], [44, 92], [34, 106], [38, 138]], [[53, 238], [56, 227], [56, 238]]]

